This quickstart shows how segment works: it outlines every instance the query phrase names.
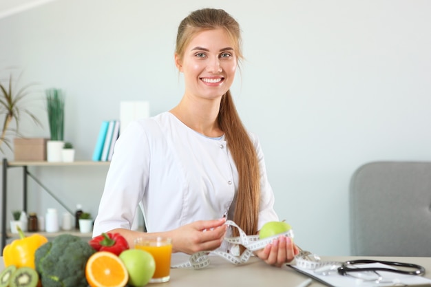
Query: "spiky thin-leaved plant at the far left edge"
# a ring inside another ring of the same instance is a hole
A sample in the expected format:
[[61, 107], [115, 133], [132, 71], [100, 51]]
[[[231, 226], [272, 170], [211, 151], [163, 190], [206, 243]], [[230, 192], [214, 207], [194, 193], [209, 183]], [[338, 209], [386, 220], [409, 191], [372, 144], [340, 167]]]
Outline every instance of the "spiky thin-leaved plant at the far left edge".
[[[10, 72], [8, 79], [0, 78], [0, 114], [6, 114], [1, 125], [0, 151], [3, 151], [1, 149], [3, 143], [12, 150], [12, 143], [8, 139], [10, 134], [22, 137], [19, 133], [19, 123], [23, 116], [30, 116], [36, 125], [42, 126], [38, 118], [25, 107], [25, 100], [28, 99], [28, 96], [36, 94], [30, 89], [36, 83], [29, 83], [19, 87], [18, 83], [21, 76], [22, 72], [15, 80], [14, 74]], [[12, 123], [15, 123], [15, 125], [11, 125]]]

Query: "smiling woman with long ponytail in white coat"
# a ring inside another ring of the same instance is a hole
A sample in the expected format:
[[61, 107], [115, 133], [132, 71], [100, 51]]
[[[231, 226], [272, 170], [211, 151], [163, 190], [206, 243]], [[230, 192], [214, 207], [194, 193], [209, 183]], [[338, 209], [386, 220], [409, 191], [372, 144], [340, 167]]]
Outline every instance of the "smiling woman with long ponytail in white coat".
[[[145, 226], [171, 237], [172, 251], [220, 249], [238, 254], [224, 237], [248, 235], [278, 217], [259, 140], [246, 130], [231, 96], [242, 59], [240, 25], [224, 10], [191, 12], [178, 27], [174, 61], [185, 91], [170, 111], [129, 124], [116, 142], [94, 235], [121, 233], [129, 245], [136, 206]], [[292, 242], [275, 239], [258, 257], [282, 266], [298, 253]]]

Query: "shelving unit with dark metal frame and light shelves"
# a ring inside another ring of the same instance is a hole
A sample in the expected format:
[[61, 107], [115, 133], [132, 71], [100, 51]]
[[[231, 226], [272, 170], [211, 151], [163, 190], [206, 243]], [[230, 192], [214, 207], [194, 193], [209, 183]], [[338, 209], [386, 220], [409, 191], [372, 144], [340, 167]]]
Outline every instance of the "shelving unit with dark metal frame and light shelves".
[[[28, 177], [32, 178], [34, 181], [36, 181], [37, 184], [39, 184], [40, 187], [42, 187], [46, 192], [48, 192], [54, 200], [59, 202], [67, 211], [69, 211], [71, 214], [74, 214], [74, 211], [70, 210], [66, 204], [63, 204], [60, 198], [57, 198], [55, 193], [50, 191], [48, 187], [46, 187], [38, 178], [36, 178], [30, 171], [28, 170], [28, 167], [76, 167], [76, 166], [109, 166], [109, 162], [94, 162], [94, 161], [76, 161], [76, 162], [35, 162], [35, 161], [17, 161], [17, 162], [8, 162], [6, 158], [3, 158], [3, 173], [2, 173], [2, 179], [3, 179], [3, 186], [1, 189], [1, 251], [3, 251], [4, 246], [6, 246], [6, 239], [7, 238], [13, 238], [18, 237], [17, 234], [12, 234], [7, 231], [7, 222], [6, 222], [6, 206], [7, 206], [7, 200], [8, 200], [8, 169], [10, 167], [21, 167], [23, 169], [23, 211], [27, 212], [27, 180]], [[38, 232], [39, 233], [39, 232]], [[90, 233], [80, 233], [76, 230], [71, 231], [61, 231], [59, 233], [39, 233], [46, 237], [54, 237], [56, 235], [62, 234], [62, 233], [71, 233], [76, 236], [80, 237], [91, 237]], [[32, 233], [27, 233], [28, 235]]]

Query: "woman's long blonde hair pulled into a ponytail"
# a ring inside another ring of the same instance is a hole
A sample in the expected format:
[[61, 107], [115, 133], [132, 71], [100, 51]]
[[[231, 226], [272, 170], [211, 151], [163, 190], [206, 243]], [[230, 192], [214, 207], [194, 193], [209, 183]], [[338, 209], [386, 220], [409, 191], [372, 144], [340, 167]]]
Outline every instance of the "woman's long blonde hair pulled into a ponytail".
[[[240, 25], [224, 10], [211, 8], [191, 12], [181, 21], [176, 39], [178, 57], [184, 55], [185, 47], [197, 32], [218, 28], [228, 33], [240, 62], [243, 59]], [[238, 116], [230, 90], [222, 96], [218, 124], [224, 131], [229, 151], [238, 169], [238, 193], [233, 220], [246, 234], [256, 234], [260, 205], [259, 163], [255, 147]], [[233, 234], [238, 235], [238, 231], [234, 229]]]

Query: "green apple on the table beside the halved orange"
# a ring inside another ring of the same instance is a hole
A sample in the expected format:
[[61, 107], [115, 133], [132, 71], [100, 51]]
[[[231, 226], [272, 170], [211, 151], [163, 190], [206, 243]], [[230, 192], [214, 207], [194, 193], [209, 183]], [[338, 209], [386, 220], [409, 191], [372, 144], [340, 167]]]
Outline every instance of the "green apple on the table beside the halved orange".
[[147, 285], [156, 270], [153, 255], [140, 249], [127, 249], [119, 257], [129, 273], [127, 283], [135, 287]]

